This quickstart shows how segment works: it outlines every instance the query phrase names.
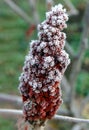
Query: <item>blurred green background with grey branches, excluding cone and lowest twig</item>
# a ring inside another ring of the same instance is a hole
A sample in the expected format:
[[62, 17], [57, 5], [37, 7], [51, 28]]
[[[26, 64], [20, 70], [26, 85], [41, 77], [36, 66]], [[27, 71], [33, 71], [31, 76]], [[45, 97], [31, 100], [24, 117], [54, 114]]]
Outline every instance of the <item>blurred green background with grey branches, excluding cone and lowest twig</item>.
[[[0, 108], [22, 109], [21, 101], [17, 101], [18, 77], [29, 42], [37, 39], [36, 26], [45, 19], [45, 12], [58, 3], [69, 13], [68, 28], [64, 31], [65, 49], [71, 58], [61, 85], [64, 103], [58, 114], [89, 118], [88, 0], [0, 0]], [[0, 117], [0, 130], [11, 129], [17, 130], [17, 118]], [[50, 121], [46, 129], [89, 130], [89, 126]]]

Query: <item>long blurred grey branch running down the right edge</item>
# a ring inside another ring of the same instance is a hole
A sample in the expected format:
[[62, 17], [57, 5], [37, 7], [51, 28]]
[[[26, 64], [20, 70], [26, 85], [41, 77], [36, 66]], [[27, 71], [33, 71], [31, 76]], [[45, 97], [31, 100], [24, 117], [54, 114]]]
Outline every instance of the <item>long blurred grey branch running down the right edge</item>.
[[[85, 11], [85, 15], [84, 15], [84, 29], [83, 29], [83, 33], [82, 33], [82, 37], [81, 37], [81, 41], [80, 41], [80, 46], [79, 46], [79, 51], [77, 54], [77, 57], [74, 59], [73, 61], [73, 65], [72, 65], [72, 69], [71, 69], [71, 74], [70, 74], [70, 85], [71, 85], [71, 110], [74, 113], [75, 116], [77, 116], [77, 114], [79, 112], [77, 107], [75, 108], [75, 97], [76, 97], [76, 92], [75, 92], [75, 83], [76, 83], [76, 79], [77, 76], [81, 70], [81, 65], [82, 65], [82, 59], [84, 57], [84, 53], [87, 49], [87, 44], [88, 44], [88, 35], [89, 35], [89, 6], [87, 6], [86, 11]], [[79, 116], [79, 115], [78, 115]]]

